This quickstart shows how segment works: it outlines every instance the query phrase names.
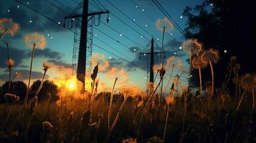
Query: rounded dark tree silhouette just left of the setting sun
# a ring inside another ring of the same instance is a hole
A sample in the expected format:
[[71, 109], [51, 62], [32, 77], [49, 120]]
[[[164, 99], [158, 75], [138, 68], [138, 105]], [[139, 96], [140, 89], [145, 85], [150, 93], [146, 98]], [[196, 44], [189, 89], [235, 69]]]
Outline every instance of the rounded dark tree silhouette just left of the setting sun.
[[[33, 97], [36, 94], [37, 89], [39, 88], [40, 84], [41, 84], [40, 80], [37, 80], [32, 84], [32, 86], [30, 88], [29, 97]], [[44, 81], [44, 83], [42, 85], [42, 89], [40, 90], [40, 92], [38, 94], [39, 102], [43, 102], [43, 101], [47, 100], [47, 98], [48, 98], [47, 94], [51, 94], [51, 102], [56, 102], [60, 98], [57, 93], [58, 93], [57, 86], [53, 82], [46, 80], [46, 81]]]

